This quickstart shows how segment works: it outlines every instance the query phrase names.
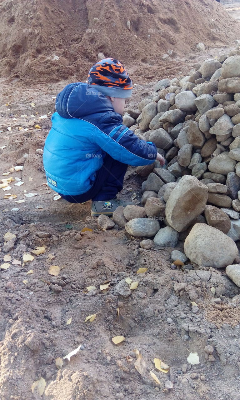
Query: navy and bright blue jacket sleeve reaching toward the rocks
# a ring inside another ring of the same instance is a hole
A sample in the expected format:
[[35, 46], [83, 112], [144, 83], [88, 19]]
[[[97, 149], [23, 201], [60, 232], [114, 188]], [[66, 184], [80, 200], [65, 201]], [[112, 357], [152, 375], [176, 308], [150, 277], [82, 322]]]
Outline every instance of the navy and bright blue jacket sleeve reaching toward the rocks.
[[124, 164], [148, 165], [157, 157], [155, 144], [138, 139], [132, 130], [122, 124], [122, 116], [114, 112], [109, 112], [100, 121], [92, 140], [114, 160]]

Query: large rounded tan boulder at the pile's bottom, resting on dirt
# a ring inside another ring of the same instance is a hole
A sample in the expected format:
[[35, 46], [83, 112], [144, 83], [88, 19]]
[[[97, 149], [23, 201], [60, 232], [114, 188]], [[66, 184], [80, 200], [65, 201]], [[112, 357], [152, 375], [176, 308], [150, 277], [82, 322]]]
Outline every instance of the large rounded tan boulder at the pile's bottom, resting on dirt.
[[220, 230], [195, 224], [184, 242], [184, 253], [199, 266], [224, 268], [235, 260], [238, 248]]

